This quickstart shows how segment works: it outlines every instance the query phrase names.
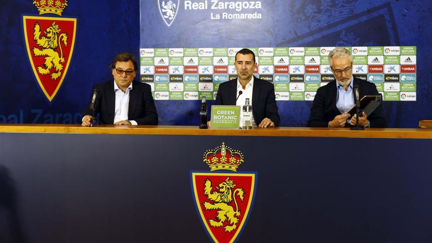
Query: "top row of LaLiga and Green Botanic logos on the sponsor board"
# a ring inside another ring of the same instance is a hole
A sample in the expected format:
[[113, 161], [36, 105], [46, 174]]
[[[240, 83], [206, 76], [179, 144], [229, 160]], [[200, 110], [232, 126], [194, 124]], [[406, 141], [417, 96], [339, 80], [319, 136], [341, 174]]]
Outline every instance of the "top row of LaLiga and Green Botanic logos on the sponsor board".
[[[256, 56], [326, 56], [335, 47], [248, 48]], [[416, 55], [415, 46], [345, 47], [352, 55]], [[242, 48], [141, 48], [141, 57], [235, 56]]]

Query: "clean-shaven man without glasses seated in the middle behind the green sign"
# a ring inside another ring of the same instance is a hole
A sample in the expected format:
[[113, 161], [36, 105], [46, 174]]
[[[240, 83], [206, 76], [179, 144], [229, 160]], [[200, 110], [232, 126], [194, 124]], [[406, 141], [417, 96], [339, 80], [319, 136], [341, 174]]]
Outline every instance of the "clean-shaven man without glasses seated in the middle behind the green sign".
[[[236, 54], [234, 65], [237, 70], [237, 78], [219, 85], [215, 105], [237, 105], [243, 108], [245, 99], [249, 98], [253, 114], [252, 126], [265, 128], [277, 126], [280, 118], [277, 112], [274, 86], [252, 75], [257, 67], [255, 54], [249, 49], [240, 50]], [[239, 91], [242, 91], [242, 94], [238, 97]], [[241, 120], [242, 111], [241, 109]]]

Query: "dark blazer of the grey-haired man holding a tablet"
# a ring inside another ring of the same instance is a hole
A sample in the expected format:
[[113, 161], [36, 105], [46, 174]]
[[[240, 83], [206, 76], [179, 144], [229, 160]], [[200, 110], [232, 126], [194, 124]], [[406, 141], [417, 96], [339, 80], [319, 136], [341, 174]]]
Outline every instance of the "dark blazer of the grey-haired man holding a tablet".
[[[353, 85], [358, 84], [360, 99], [365, 95], [379, 95], [374, 83], [353, 79]], [[354, 93], [354, 92], [352, 92]], [[337, 87], [336, 80], [320, 87], [315, 95], [311, 114], [307, 122], [308, 127], [328, 127], [328, 122], [341, 112], [336, 107]], [[384, 110], [378, 106], [368, 117], [371, 128], [385, 127]]]

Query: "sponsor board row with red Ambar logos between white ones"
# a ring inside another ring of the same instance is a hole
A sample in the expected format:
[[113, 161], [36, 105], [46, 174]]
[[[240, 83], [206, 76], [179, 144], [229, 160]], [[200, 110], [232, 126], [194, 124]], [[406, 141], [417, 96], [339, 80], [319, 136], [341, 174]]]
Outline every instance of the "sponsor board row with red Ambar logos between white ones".
[[[416, 73], [416, 65], [352, 65], [353, 74]], [[329, 65], [258, 65], [254, 74], [331, 74]], [[237, 74], [234, 65], [141, 66], [141, 75], [149, 74]]]

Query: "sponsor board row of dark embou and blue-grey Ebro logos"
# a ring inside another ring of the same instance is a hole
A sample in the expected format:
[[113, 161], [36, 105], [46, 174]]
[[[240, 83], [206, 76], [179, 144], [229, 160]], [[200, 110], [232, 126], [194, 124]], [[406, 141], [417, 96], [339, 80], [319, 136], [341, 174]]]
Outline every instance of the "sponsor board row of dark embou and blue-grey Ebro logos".
[[[416, 74], [354, 74], [354, 77], [370, 82], [416, 82]], [[330, 82], [332, 74], [262, 74], [257, 78], [269, 82]], [[237, 78], [228, 74], [156, 74], [141, 75], [142, 82], [216, 82], [221, 83]]]

